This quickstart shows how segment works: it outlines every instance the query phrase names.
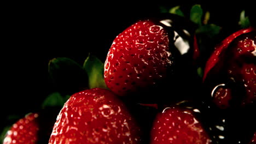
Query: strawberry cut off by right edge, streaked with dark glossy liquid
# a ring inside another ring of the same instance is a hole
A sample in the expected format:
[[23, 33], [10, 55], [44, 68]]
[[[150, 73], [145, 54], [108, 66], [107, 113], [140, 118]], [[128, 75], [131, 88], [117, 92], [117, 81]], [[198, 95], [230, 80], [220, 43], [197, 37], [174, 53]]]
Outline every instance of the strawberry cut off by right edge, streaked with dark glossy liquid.
[[206, 93], [226, 109], [256, 100], [256, 31], [242, 29], [217, 46], [208, 59], [203, 76]]

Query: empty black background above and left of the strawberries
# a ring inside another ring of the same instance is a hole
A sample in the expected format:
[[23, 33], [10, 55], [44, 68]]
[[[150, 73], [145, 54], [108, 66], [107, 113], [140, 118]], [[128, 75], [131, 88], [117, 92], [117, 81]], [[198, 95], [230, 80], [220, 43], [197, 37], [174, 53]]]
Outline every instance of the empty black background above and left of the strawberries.
[[[193, 4], [210, 11], [210, 23], [223, 29], [219, 40], [238, 30], [242, 10], [252, 19], [249, 1], [178, 2], [27, 2], [10, 3], [1, 20], [1, 115], [25, 115], [40, 109], [45, 97], [54, 91], [49, 86], [48, 62], [54, 57], [69, 57], [83, 64], [88, 52], [102, 62], [112, 41], [126, 27], [160, 12], [160, 7], [181, 5], [188, 15]], [[253, 17], [254, 18], [254, 17]], [[2, 116], [1, 116], [2, 117]]]

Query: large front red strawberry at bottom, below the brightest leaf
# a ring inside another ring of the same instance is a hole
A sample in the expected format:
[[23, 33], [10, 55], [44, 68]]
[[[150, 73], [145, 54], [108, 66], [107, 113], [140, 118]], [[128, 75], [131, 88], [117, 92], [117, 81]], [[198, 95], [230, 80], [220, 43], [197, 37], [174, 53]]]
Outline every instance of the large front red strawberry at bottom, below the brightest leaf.
[[66, 101], [49, 143], [140, 143], [139, 133], [135, 120], [112, 92], [93, 88]]

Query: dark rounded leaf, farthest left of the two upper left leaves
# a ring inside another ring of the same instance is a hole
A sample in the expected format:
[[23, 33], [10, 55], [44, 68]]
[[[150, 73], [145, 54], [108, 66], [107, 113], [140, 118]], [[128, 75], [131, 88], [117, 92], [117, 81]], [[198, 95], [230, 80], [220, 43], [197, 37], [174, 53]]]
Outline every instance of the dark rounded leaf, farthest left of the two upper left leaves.
[[54, 91], [62, 95], [71, 95], [88, 88], [88, 75], [71, 58], [58, 57], [51, 59], [48, 64], [48, 71], [53, 81]]

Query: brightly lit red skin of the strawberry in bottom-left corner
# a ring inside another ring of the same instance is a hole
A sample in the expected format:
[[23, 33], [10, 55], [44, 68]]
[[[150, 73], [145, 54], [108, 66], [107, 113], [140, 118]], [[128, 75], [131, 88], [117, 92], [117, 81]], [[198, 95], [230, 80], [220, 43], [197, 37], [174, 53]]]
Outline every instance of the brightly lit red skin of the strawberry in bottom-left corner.
[[3, 144], [33, 144], [38, 141], [38, 113], [29, 113], [13, 124], [4, 138]]

